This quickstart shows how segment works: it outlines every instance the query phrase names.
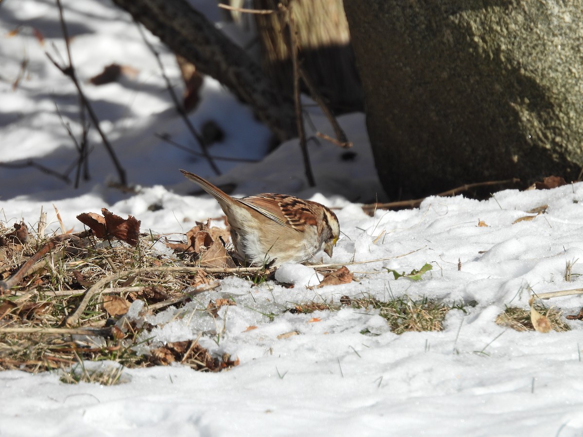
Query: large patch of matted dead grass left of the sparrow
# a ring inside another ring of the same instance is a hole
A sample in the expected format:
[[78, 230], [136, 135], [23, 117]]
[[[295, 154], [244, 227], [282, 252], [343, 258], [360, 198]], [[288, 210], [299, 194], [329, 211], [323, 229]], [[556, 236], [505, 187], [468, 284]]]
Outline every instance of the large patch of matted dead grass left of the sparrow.
[[[15, 231], [0, 223], [3, 285], [11, 284], [9, 279], [19, 267], [38, 256], [51, 241], [34, 235], [20, 241], [11, 233]], [[59, 371], [64, 382], [107, 385], [124, 380], [123, 367], [180, 362], [199, 371], [220, 371], [237, 365], [230, 357], [212, 356], [198, 339], [158, 347], [141, 340], [149, 337], [153, 326], [135, 320], [124, 322], [124, 313], [136, 300], [145, 302], [145, 313], [155, 314], [170, 305], [184, 305], [192, 299], [188, 294], [192, 287], [210, 289], [217, 277], [227, 274], [220, 273], [221, 269], [210, 269], [214, 270], [210, 274], [189, 267], [192, 254], [175, 258], [161, 255], [153, 249], [160, 238], [142, 235], [134, 247], [98, 240], [85, 232], [52, 245], [16, 284], [0, 288], [0, 370]], [[121, 272], [131, 269], [138, 269], [138, 273], [121, 277]], [[75, 326], [64, 327], [87, 290], [106, 277], [112, 280], [82, 308]], [[9, 290], [1, 294], [3, 288]], [[213, 316], [209, 313], [208, 317]], [[110, 360], [120, 366], [93, 371], [83, 366], [84, 360]]]

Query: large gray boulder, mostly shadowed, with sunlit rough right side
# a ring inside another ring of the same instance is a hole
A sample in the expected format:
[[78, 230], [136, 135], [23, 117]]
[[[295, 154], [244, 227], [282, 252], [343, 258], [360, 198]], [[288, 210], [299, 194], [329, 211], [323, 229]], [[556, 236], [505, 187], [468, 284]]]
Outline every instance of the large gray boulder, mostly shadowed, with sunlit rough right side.
[[583, 0], [344, 0], [392, 196], [583, 164]]

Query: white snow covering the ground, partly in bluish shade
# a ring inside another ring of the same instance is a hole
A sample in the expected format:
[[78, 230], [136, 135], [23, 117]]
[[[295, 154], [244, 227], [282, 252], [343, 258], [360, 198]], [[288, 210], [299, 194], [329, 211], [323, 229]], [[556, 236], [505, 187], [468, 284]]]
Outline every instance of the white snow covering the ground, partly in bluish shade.
[[[199, 3], [219, 19], [208, 3]], [[33, 158], [65, 171], [76, 154], [55, 102], [76, 135], [80, 129], [72, 84], [44, 55], [48, 51], [60, 59], [53, 43], [61, 56], [65, 53], [57, 9], [40, 0], [2, 2], [0, 8], [2, 162]], [[34, 168], [1, 168], [3, 220], [23, 219], [34, 228], [42, 208], [49, 229], [57, 231], [54, 206], [66, 228], [81, 230], [76, 214], [107, 207], [136, 216], [143, 229], [175, 238], [195, 220], [213, 217], [213, 225], [224, 225], [215, 200], [190, 194], [196, 186], [178, 171], [185, 168], [217, 184], [236, 184], [235, 195], [288, 192], [335, 207], [343, 235], [331, 261], [346, 263], [357, 281], [309, 289], [306, 284], [317, 283], [314, 270], [286, 265], [276, 277], [293, 288], [230, 277], [180, 310], [149, 320], [160, 324], [152, 332], [160, 344], [202, 333], [203, 347], [240, 360], [230, 371], [197, 373], [180, 365], [126, 369], [127, 383], [117, 386], [68, 385], [55, 373], [0, 372], [0, 435], [33, 436], [40, 430], [46, 436], [582, 435], [581, 322], [568, 322], [569, 332], [542, 334], [505, 329], [494, 319], [506, 306], [528, 308], [531, 290], [582, 287], [583, 184], [505, 190], [483, 201], [432, 197], [416, 209], [378, 210], [370, 217], [356, 202], [383, 194], [363, 114], [339, 120], [354, 142], [353, 160], [343, 159], [345, 150], [336, 146], [310, 142], [316, 188], [305, 182], [297, 140], [261, 163], [217, 161], [224, 174], [215, 177], [204, 160], [154, 136], [168, 134], [195, 147], [131, 19], [97, 0], [65, 2], [65, 17], [83, 89], [138, 191], [108, 186], [115, 171], [92, 130], [92, 178], [78, 189]], [[44, 45], [33, 27], [44, 35]], [[234, 31], [229, 27], [230, 34]], [[173, 56], [156, 38], [149, 39], [180, 90]], [[12, 89], [24, 58], [26, 74]], [[113, 62], [136, 69], [137, 76], [101, 87], [87, 83]], [[264, 156], [269, 132], [248, 108], [212, 79], [205, 79], [202, 96], [192, 122], [199, 128], [213, 120], [225, 131], [211, 153]], [[332, 133], [318, 111], [310, 114], [321, 131]], [[161, 208], [152, 210], [153, 205]], [[540, 205], [548, 205], [545, 214], [513, 224]], [[480, 220], [487, 227], [478, 226]], [[564, 279], [567, 262], [573, 263], [571, 282]], [[410, 272], [425, 263], [433, 270], [421, 281], [395, 280], [388, 271]], [[300, 302], [338, 302], [343, 295], [429, 297], [463, 302], [466, 313], [450, 311], [441, 332], [396, 335], [375, 310], [284, 312]], [[220, 308], [216, 320], [201, 316], [198, 309], [219, 297], [237, 305]], [[581, 299], [561, 297], [549, 305], [577, 313]], [[139, 310], [134, 303], [128, 317], [138, 317]], [[362, 334], [365, 330], [374, 335]]]

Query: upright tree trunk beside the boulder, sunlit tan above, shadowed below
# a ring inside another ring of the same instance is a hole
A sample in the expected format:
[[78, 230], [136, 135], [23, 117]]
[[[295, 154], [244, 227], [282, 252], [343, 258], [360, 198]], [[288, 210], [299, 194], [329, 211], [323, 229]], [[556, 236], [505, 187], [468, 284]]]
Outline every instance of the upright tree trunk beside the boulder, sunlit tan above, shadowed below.
[[[279, 0], [254, 0], [255, 9], [278, 10]], [[363, 96], [354, 65], [342, 0], [288, 0], [296, 27], [301, 67], [335, 112], [362, 111]], [[293, 71], [289, 29], [281, 13], [254, 15], [264, 71], [291, 94]]]

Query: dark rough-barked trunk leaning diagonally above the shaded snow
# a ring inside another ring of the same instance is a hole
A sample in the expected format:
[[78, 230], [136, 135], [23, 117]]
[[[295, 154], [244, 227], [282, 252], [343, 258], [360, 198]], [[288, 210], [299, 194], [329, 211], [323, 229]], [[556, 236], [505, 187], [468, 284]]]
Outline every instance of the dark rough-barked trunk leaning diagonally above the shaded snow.
[[198, 71], [250, 105], [280, 140], [297, 136], [293, 101], [284, 96], [259, 65], [185, 0], [113, 0], [120, 8]]

